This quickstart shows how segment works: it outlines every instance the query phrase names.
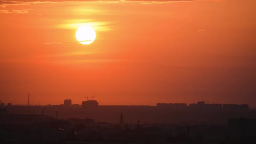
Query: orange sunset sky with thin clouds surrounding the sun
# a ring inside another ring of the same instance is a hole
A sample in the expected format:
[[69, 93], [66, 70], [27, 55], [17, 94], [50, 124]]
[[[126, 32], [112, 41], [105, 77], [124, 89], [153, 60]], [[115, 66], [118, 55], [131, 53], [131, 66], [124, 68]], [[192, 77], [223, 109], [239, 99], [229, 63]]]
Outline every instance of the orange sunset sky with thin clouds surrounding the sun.
[[0, 0], [0, 27], [5, 103], [256, 107], [256, 0]]

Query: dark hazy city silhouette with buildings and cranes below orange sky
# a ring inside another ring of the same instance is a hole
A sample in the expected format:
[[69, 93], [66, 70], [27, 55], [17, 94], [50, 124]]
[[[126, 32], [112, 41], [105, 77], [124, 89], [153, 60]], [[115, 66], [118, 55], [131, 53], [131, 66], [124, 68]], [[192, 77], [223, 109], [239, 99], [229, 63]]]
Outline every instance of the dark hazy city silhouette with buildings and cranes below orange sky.
[[255, 141], [256, 111], [248, 104], [81, 104], [0, 108], [0, 141], [61, 144], [234, 144]]

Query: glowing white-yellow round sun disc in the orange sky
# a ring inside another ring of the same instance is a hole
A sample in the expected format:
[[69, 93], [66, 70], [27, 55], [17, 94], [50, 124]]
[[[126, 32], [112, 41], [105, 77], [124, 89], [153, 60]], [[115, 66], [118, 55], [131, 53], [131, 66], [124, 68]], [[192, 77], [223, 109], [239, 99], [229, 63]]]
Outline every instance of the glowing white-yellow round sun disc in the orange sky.
[[96, 32], [92, 27], [82, 26], [77, 29], [75, 37], [79, 43], [83, 45], [89, 45], [95, 40]]

